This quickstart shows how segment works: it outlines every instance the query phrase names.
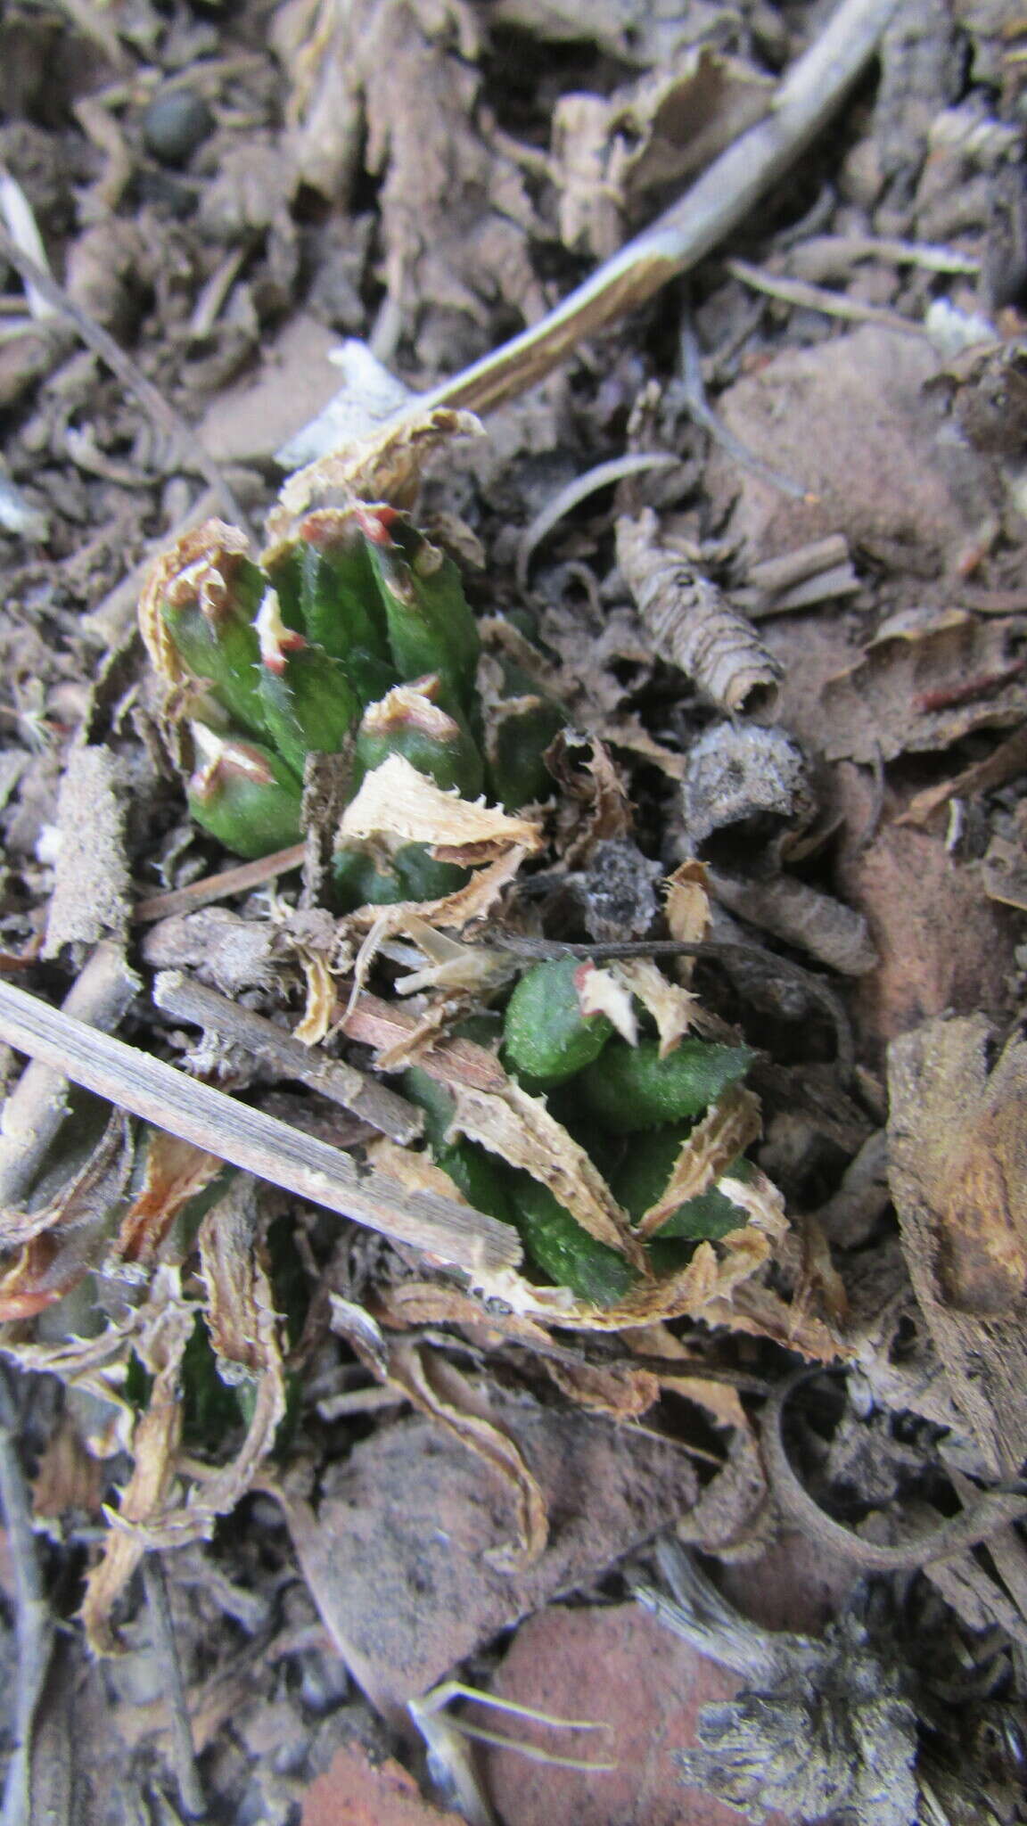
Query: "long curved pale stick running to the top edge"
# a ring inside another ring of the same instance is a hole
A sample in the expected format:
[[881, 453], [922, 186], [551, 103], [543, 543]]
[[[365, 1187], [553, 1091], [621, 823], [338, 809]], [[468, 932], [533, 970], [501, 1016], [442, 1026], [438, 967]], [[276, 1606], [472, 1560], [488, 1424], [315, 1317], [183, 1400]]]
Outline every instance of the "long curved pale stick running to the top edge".
[[411, 409], [466, 405], [486, 413], [515, 398], [559, 367], [587, 336], [636, 310], [669, 279], [698, 265], [831, 119], [873, 57], [895, 5], [897, 0], [842, 0], [780, 84], [769, 115], [720, 153], [685, 197], [598, 267], [556, 310], [431, 393], [418, 394]]

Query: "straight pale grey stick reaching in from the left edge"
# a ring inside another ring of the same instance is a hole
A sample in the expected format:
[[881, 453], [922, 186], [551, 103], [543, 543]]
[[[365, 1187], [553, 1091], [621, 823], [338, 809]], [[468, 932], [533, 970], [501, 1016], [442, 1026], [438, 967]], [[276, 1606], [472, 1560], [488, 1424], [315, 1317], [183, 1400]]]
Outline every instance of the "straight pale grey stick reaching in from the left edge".
[[327, 1141], [199, 1085], [110, 1034], [97, 1034], [9, 982], [0, 982], [0, 1039], [132, 1116], [470, 1275], [521, 1262], [521, 1244], [508, 1223], [439, 1192], [408, 1192], [382, 1172], [362, 1170]]

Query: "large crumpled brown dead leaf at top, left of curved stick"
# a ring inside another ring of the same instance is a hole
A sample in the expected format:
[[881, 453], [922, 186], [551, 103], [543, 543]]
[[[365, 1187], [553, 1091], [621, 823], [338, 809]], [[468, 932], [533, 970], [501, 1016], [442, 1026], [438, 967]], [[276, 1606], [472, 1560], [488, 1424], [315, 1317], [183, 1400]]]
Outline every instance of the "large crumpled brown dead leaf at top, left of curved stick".
[[475, 11], [464, 0], [292, 0], [276, 15], [274, 38], [292, 75], [303, 183], [338, 205], [362, 164], [380, 179], [386, 285], [420, 362], [459, 367], [453, 332], [462, 341], [486, 325], [497, 298], [539, 316], [528, 256], [535, 210], [481, 106]]

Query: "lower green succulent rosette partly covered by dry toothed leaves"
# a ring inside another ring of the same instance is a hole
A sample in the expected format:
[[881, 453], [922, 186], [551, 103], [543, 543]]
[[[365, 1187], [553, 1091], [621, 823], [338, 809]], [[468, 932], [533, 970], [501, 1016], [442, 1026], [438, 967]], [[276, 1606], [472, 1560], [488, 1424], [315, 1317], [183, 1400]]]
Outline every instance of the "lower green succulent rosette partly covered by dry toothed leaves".
[[[671, 1180], [693, 1123], [724, 1090], [744, 1079], [749, 1046], [683, 1039], [660, 1057], [652, 1039], [629, 1044], [605, 1013], [583, 1013], [581, 966], [556, 959], [528, 970], [503, 1024], [503, 1059], [532, 1094], [546, 1092], [574, 1139], [605, 1174], [618, 1203], [640, 1220]], [[590, 1236], [528, 1172], [508, 1167], [473, 1141], [450, 1139], [450, 1092], [422, 1068], [404, 1077], [406, 1094], [428, 1112], [433, 1158], [479, 1211], [514, 1223], [535, 1264], [556, 1286], [594, 1306], [612, 1306], [638, 1284], [638, 1271]], [[731, 1172], [747, 1178], [736, 1160]], [[654, 1273], [683, 1267], [696, 1242], [738, 1229], [746, 1214], [716, 1185], [678, 1205], [647, 1245]]]

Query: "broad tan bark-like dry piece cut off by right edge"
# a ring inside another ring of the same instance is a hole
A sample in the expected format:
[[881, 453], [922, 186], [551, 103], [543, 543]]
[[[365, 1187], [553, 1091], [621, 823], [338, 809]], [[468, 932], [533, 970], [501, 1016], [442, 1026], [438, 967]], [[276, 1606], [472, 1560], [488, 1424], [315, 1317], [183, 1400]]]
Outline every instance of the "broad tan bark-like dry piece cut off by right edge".
[[890, 1178], [910, 1278], [989, 1466], [1027, 1453], [1027, 1046], [985, 1015], [892, 1043]]

